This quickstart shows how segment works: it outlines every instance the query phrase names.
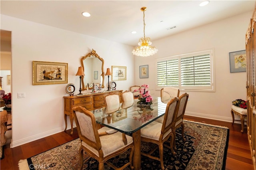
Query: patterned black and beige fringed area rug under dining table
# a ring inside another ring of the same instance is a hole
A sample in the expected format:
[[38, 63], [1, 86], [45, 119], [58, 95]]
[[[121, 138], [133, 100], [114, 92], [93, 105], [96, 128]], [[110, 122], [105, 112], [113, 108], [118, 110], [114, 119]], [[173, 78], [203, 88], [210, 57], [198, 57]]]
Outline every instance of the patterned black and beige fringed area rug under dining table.
[[[164, 167], [166, 170], [224, 170], [229, 129], [191, 121], [184, 121], [184, 124], [186, 142], [183, 142], [181, 135], [176, 135], [176, 155], [173, 156], [170, 149], [164, 148]], [[178, 128], [177, 132], [180, 133], [180, 131], [181, 128]], [[20, 160], [20, 170], [77, 170], [80, 167], [79, 147], [80, 140], [76, 139], [27, 160]], [[142, 142], [142, 152], [148, 152], [152, 147], [154, 147], [154, 144]], [[116, 156], [111, 159], [111, 162], [117, 167], [122, 166], [128, 161], [129, 153], [130, 151], [127, 151], [120, 156]], [[154, 154], [159, 156], [158, 150]], [[84, 153], [84, 159], [87, 157], [88, 155]], [[161, 165], [158, 160], [142, 156], [141, 168], [142, 170], [160, 170]], [[87, 162], [84, 162], [83, 169], [98, 169], [98, 161], [90, 158]], [[107, 164], [104, 164], [104, 169], [112, 170]], [[126, 168], [126, 170], [129, 169], [130, 166]]]

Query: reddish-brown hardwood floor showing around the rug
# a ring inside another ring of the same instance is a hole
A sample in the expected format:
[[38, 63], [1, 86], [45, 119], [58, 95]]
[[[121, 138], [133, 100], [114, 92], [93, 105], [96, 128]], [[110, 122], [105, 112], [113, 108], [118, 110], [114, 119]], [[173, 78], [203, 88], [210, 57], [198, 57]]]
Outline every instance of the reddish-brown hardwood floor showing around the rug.
[[[252, 157], [249, 149], [247, 131], [244, 134], [240, 132], [241, 125], [215, 121], [211, 119], [202, 119], [198, 117], [184, 117], [186, 120], [208, 123], [212, 125], [225, 126], [230, 129], [228, 154], [226, 160], [226, 170], [254, 170], [252, 165]], [[74, 134], [70, 135], [70, 130], [67, 132], [60, 132], [34, 142], [23, 144], [15, 148], [5, 147], [4, 158], [1, 160], [1, 170], [18, 170], [18, 161], [40, 154], [46, 150], [69, 142], [78, 138], [76, 128]]]

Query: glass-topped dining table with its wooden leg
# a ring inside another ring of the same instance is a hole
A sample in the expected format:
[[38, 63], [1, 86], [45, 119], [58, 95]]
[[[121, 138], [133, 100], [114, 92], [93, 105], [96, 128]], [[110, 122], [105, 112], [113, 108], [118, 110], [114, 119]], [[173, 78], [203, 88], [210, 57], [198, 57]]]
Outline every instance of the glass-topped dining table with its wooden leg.
[[153, 97], [150, 109], [137, 106], [138, 99], [134, 99], [132, 106], [120, 105], [119, 108], [108, 107], [92, 110], [96, 122], [122, 133], [131, 134], [134, 142], [133, 164], [134, 170], [140, 170], [140, 129], [162, 117], [166, 110], [166, 103], [160, 97]]

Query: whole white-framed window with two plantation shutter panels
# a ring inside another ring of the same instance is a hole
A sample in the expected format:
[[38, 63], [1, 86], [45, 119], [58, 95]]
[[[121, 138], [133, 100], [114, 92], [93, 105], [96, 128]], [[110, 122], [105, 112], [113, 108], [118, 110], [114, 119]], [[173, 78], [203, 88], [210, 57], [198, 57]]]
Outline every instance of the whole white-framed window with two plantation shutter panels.
[[186, 91], [215, 91], [214, 49], [157, 60], [157, 86]]

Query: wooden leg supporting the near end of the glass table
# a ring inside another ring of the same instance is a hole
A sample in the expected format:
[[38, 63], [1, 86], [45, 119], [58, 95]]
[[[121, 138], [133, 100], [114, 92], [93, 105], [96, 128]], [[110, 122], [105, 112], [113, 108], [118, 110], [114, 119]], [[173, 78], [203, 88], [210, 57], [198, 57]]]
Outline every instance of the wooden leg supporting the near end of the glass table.
[[140, 170], [140, 129], [132, 134], [134, 144], [133, 166], [134, 170]]

